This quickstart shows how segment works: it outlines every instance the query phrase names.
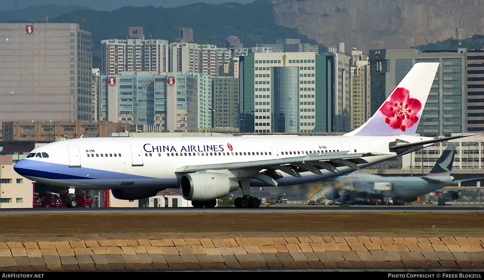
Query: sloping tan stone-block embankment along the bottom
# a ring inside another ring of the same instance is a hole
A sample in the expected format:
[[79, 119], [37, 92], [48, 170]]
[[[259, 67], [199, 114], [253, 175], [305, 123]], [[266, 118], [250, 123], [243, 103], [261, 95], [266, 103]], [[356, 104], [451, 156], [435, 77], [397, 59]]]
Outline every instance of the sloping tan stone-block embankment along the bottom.
[[17, 236], [0, 241], [0, 271], [484, 271], [484, 234], [203, 236]]

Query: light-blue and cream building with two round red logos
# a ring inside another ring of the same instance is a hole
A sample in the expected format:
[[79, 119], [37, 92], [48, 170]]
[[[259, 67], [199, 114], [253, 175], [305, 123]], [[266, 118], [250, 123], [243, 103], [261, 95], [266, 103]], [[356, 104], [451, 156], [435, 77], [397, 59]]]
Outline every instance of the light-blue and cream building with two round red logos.
[[101, 75], [100, 101], [103, 120], [141, 131], [198, 132], [197, 77], [191, 74]]

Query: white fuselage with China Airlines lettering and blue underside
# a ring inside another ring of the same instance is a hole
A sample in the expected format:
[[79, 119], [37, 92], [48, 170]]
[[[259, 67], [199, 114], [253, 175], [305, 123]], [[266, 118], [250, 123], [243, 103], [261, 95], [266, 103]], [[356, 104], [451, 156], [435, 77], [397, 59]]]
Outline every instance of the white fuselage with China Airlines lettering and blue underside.
[[[59, 141], [34, 149], [15, 164], [22, 176], [46, 185], [81, 189], [178, 188], [183, 166], [230, 164], [298, 157], [315, 152], [382, 153], [365, 157], [368, 163], [397, 155], [389, 151], [396, 139], [418, 142], [421, 136], [241, 136], [241, 137], [109, 137]], [[429, 146], [429, 145], [426, 145]], [[40, 153], [40, 154], [39, 154]], [[48, 157], [40, 157], [46, 154]], [[38, 157], [39, 156], [39, 157]], [[354, 169], [338, 167], [340, 174]], [[322, 169], [294, 177], [281, 173], [279, 186], [295, 185], [337, 176]], [[251, 186], [266, 186], [256, 179]]]

